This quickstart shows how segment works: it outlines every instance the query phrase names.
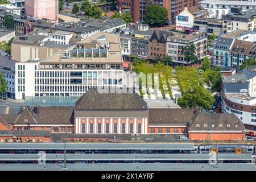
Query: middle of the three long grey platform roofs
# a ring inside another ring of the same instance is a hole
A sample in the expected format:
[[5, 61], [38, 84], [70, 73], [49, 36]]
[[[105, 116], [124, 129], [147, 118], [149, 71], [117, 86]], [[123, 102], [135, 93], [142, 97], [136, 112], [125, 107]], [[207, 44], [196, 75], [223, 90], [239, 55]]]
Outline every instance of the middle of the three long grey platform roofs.
[[[209, 160], [209, 154], [67, 154], [67, 160]], [[218, 160], [252, 160], [251, 154], [218, 154]], [[0, 154], [0, 161], [38, 160], [38, 154]], [[64, 154], [46, 154], [64, 160]]]

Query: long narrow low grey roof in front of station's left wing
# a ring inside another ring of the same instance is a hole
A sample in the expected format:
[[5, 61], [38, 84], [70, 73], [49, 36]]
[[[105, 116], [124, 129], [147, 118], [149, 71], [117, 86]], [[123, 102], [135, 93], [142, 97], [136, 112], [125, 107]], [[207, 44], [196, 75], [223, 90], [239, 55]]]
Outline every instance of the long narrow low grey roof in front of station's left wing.
[[16, 137], [51, 137], [51, 131], [18, 131], [18, 130], [0, 130], [0, 136], [16, 136]]

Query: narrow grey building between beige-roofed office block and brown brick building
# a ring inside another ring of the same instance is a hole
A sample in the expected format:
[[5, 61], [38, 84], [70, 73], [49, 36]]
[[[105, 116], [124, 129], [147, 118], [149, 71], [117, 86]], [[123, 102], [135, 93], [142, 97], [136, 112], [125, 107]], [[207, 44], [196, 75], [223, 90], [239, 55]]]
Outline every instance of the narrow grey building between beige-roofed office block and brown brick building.
[[141, 59], [148, 59], [150, 38], [153, 30], [134, 31], [131, 33], [131, 55]]

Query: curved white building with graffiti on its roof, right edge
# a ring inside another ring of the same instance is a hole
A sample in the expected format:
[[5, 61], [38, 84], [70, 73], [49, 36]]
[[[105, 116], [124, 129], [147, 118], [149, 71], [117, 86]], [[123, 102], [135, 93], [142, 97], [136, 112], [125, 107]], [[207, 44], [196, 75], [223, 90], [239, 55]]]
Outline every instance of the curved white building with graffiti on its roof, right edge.
[[251, 66], [234, 75], [222, 76], [221, 100], [224, 113], [234, 113], [246, 129], [256, 129], [256, 69]]

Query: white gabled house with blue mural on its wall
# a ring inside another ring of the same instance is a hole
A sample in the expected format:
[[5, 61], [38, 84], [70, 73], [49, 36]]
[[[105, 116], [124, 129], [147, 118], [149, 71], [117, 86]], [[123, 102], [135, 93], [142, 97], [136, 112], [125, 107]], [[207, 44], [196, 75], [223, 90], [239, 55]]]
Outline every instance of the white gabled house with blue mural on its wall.
[[176, 31], [193, 32], [194, 18], [195, 16], [185, 7], [185, 9], [176, 16]]

